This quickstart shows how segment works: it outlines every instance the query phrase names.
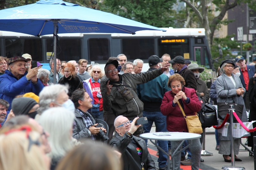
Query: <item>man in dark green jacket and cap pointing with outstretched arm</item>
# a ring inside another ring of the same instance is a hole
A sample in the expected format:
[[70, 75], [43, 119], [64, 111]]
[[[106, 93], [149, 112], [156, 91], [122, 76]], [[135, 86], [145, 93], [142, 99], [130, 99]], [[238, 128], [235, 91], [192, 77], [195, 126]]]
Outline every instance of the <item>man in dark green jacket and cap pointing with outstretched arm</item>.
[[[129, 120], [142, 117], [143, 102], [138, 98], [137, 85], [153, 80], [168, 68], [164, 65], [161, 69], [141, 74], [125, 73], [120, 75], [117, 67], [118, 62], [116, 60], [105, 66], [105, 74], [109, 80], [102, 84], [106, 88], [103, 92], [103, 109], [105, 111], [112, 109], [116, 116], [123, 115]], [[143, 127], [138, 128], [134, 136], [139, 137], [141, 133], [143, 133]]]

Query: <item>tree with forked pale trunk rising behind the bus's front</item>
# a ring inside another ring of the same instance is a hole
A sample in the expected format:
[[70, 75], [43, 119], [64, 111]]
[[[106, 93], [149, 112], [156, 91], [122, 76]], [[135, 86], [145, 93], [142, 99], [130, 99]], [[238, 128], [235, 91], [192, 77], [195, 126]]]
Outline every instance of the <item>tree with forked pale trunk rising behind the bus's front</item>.
[[241, 3], [249, 3], [251, 9], [255, 9], [256, 1], [255, 0], [212, 0], [210, 3], [216, 5], [216, 11], [220, 11], [220, 14], [212, 18], [209, 22], [209, 8], [207, 0], [198, 0], [194, 4], [190, 0], [181, 0], [185, 2], [197, 15], [200, 23], [205, 28], [205, 34], [209, 41], [209, 46], [212, 44], [214, 30], [218, 24], [227, 25], [230, 21], [222, 20], [229, 9], [234, 8]]

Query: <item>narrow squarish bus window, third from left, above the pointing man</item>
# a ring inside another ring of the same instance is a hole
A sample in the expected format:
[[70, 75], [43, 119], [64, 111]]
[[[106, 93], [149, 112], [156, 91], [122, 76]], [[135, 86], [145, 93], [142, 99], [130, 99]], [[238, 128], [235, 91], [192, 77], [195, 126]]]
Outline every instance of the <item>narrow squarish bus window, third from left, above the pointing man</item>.
[[107, 61], [110, 57], [109, 40], [107, 38], [90, 38], [88, 55], [90, 61]]

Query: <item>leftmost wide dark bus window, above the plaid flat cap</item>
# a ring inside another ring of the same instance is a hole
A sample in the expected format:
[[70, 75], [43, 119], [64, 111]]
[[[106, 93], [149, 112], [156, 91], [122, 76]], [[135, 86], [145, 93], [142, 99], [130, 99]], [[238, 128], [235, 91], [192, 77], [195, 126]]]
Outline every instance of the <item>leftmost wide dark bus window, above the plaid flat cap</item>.
[[41, 39], [5, 39], [5, 56], [7, 58], [30, 54], [32, 60], [43, 61]]

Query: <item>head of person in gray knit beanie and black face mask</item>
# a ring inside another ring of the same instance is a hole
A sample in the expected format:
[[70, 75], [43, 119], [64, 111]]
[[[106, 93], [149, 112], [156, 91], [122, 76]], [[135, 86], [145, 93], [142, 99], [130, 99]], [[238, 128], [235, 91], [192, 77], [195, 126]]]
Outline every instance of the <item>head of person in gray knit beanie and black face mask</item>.
[[12, 100], [12, 112], [17, 115], [28, 115], [35, 119], [39, 104], [36, 100], [28, 97], [19, 97]]

